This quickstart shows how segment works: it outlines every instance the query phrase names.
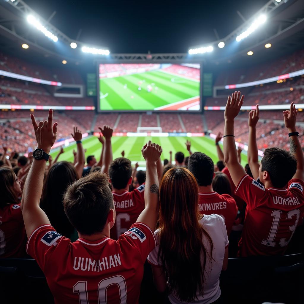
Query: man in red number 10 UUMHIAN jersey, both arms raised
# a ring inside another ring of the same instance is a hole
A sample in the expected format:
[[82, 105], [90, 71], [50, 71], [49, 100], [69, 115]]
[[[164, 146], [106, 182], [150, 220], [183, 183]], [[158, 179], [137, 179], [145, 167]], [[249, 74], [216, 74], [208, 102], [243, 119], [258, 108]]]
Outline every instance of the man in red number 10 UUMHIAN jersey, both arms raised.
[[[111, 240], [115, 222], [113, 195], [106, 174], [94, 172], [75, 181], [65, 193], [64, 209], [79, 233], [71, 241], [50, 225], [39, 207], [45, 164], [56, 140], [53, 111], [47, 121], [36, 123], [31, 114], [38, 148], [26, 179], [21, 208], [29, 237], [27, 252], [46, 275], [55, 303], [138, 303], [143, 264], [156, 246], [154, 229], [159, 209], [156, 162], [162, 149], [147, 143], [145, 209], [119, 240]], [[104, 126], [105, 154], [111, 150], [112, 129]]]

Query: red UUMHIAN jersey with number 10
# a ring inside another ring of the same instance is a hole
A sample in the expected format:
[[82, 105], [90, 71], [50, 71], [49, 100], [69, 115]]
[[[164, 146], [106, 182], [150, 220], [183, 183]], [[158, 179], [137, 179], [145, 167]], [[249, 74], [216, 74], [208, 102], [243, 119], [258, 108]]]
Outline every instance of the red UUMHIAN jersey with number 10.
[[119, 237], [71, 243], [50, 225], [37, 228], [26, 251], [42, 269], [55, 303], [138, 303], [154, 233], [135, 223]]

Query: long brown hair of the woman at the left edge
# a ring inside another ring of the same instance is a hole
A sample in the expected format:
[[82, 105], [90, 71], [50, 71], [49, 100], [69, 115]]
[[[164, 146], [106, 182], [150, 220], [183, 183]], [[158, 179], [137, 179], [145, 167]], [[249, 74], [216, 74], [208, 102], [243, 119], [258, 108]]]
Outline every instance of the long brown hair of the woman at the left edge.
[[18, 195], [14, 191], [16, 174], [10, 168], [0, 168], [0, 208], [7, 204], [18, 204]]

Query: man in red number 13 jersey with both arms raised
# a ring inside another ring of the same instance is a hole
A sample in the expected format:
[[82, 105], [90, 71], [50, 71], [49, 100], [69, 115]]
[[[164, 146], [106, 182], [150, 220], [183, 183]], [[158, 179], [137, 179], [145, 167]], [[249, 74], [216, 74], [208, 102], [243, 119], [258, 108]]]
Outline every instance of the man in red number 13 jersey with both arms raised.
[[225, 162], [236, 185], [235, 194], [247, 203], [240, 255], [284, 254], [304, 212], [304, 157], [295, 128], [297, 110], [292, 102], [290, 110], [283, 112], [290, 152], [279, 148], [264, 151], [259, 168], [263, 186], [247, 175], [237, 161], [234, 118], [243, 101], [244, 95], [233, 93], [224, 114]]

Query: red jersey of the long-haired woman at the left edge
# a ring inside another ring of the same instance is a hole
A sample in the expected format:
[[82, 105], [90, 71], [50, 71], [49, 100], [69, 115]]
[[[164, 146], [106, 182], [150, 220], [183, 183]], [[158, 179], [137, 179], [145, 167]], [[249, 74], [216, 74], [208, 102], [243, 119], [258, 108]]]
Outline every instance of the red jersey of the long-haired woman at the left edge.
[[26, 240], [20, 204], [0, 208], [0, 257], [26, 257]]

